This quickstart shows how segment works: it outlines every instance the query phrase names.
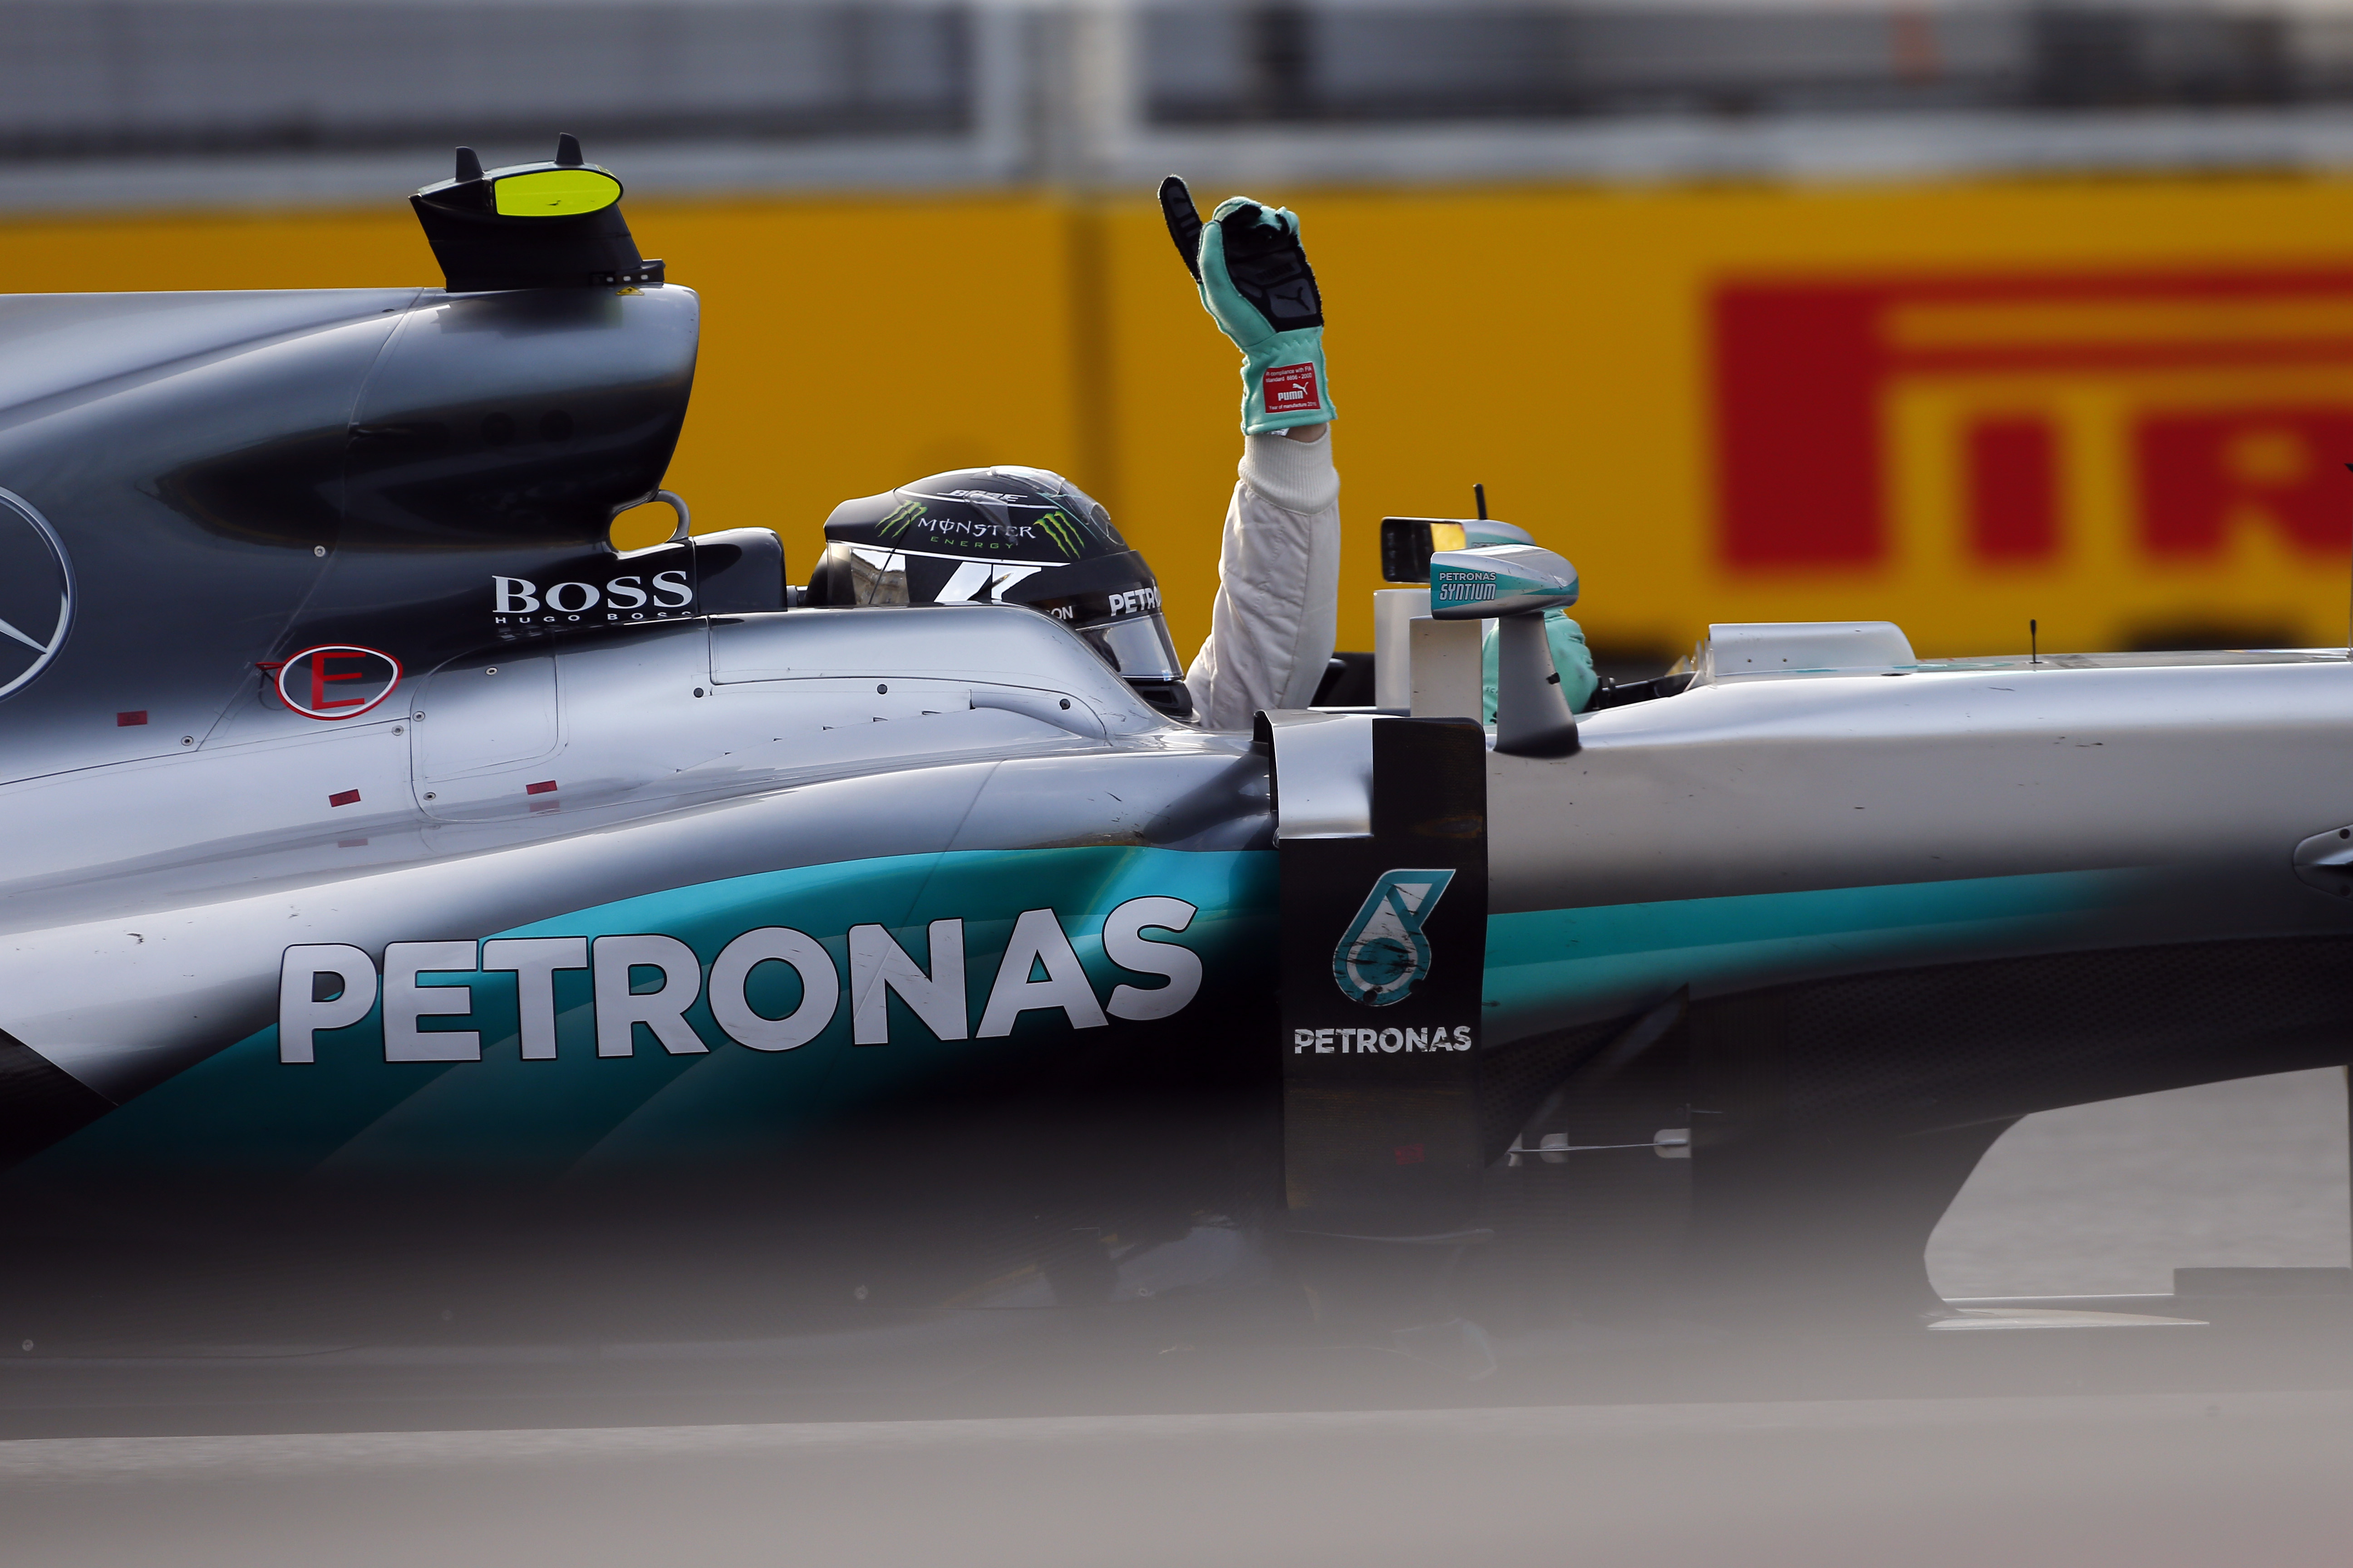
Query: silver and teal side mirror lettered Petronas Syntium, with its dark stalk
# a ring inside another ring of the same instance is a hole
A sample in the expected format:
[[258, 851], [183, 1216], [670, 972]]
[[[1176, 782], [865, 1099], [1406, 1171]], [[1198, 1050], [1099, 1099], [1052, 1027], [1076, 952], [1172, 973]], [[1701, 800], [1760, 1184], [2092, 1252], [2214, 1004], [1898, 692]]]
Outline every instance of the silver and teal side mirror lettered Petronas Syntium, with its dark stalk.
[[1560, 689], [1544, 611], [1577, 604], [1577, 567], [1537, 545], [1440, 550], [1431, 557], [1431, 618], [1494, 618], [1494, 750], [1567, 757], [1577, 712]]

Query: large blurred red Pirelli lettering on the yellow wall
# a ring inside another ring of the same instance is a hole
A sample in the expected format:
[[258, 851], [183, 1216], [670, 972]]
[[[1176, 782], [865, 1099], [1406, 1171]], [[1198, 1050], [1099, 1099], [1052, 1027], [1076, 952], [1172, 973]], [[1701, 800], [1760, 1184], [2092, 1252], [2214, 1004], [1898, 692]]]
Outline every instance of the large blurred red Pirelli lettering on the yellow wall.
[[2348, 543], [2353, 268], [1729, 282], [1713, 350], [1734, 569], [1878, 567], [1906, 508], [1984, 567]]

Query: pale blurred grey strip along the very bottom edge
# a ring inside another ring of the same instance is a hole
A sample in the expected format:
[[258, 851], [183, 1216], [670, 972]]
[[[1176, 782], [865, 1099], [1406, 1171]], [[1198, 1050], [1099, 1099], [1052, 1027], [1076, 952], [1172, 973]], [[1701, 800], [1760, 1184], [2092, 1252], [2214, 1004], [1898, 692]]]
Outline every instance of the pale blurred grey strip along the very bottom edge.
[[2344, 1394], [82, 1439], [7, 1561], [2337, 1563]]

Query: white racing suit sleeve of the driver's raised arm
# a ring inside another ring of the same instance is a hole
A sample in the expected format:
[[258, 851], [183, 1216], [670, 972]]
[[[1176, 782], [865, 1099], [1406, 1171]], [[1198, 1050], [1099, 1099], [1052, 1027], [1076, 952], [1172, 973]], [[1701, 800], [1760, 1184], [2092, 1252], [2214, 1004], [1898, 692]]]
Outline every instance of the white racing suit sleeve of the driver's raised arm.
[[1320, 442], [1245, 435], [1209, 637], [1184, 684], [1207, 729], [1315, 701], [1339, 625], [1339, 470]]

